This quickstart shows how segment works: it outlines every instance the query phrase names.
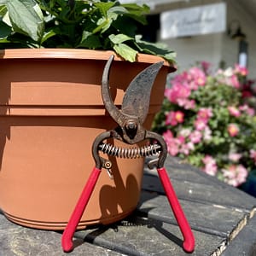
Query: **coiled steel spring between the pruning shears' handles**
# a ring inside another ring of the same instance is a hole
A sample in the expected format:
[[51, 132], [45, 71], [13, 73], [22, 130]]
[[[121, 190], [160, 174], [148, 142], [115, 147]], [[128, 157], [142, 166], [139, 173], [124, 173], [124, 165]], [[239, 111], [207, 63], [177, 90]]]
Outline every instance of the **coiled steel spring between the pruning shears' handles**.
[[141, 148], [119, 148], [108, 143], [102, 143], [99, 145], [99, 150], [104, 154], [129, 159], [152, 156], [160, 153], [160, 149], [161, 146], [159, 144], [151, 144]]

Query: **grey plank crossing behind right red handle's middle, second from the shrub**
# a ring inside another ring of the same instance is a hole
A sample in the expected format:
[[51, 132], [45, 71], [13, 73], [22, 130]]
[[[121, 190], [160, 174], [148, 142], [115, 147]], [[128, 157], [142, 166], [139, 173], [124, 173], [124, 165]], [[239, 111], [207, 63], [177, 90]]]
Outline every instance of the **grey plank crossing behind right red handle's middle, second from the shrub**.
[[[228, 237], [236, 225], [247, 218], [247, 212], [213, 204], [206, 205], [183, 200], [180, 200], [180, 204], [193, 230], [212, 235]], [[177, 223], [164, 195], [143, 191], [137, 211], [147, 214], [149, 218], [159, 219], [169, 224]]]

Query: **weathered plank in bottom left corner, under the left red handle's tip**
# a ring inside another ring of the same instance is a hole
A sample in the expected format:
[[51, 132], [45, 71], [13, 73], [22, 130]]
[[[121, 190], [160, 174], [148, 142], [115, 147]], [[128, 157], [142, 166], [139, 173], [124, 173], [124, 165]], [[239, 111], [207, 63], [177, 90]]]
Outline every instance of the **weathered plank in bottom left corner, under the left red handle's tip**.
[[[61, 233], [27, 229], [9, 222], [0, 214], [0, 255], [67, 256], [67, 253], [63, 253], [61, 249]], [[121, 254], [90, 243], [83, 243], [68, 255], [119, 256]]]

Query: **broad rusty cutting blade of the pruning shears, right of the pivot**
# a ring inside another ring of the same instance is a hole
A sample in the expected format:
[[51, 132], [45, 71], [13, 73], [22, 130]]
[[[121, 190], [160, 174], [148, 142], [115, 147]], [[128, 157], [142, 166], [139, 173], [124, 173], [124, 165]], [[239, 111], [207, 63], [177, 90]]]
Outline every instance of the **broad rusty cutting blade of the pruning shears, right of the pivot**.
[[164, 61], [160, 61], [144, 69], [131, 81], [131, 84], [125, 91], [122, 113], [137, 116], [141, 124], [143, 124], [148, 114], [150, 94], [154, 79], [163, 64]]

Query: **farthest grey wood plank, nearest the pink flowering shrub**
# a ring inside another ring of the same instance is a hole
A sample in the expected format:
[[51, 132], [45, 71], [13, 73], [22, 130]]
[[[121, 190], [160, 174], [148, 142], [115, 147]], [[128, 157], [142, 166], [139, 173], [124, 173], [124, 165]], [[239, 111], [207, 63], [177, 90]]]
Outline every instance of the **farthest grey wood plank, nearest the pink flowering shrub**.
[[[169, 158], [167, 158], [169, 160]], [[168, 162], [167, 162], [168, 165]], [[256, 207], [256, 198], [247, 195], [239, 189], [233, 188], [225, 183], [210, 177], [193, 167], [185, 166], [187, 169], [168, 168], [166, 171], [172, 181], [177, 197], [183, 200], [200, 201], [218, 204], [226, 207], [247, 210], [250, 212]], [[175, 178], [178, 177], [178, 178]], [[198, 182], [200, 180], [200, 182]], [[156, 171], [150, 170], [144, 173], [143, 189], [165, 194], [157, 176]]]

